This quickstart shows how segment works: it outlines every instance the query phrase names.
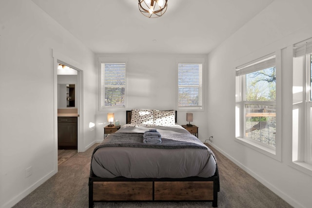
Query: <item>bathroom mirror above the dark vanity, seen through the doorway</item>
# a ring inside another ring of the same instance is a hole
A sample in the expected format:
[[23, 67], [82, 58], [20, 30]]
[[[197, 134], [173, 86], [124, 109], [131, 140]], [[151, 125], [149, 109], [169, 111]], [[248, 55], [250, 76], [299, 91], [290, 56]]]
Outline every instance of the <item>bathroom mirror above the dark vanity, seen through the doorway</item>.
[[75, 84], [58, 84], [58, 108], [75, 106]]

